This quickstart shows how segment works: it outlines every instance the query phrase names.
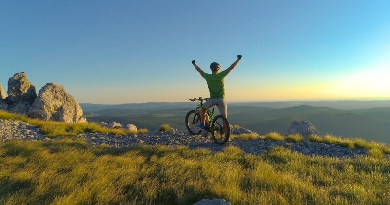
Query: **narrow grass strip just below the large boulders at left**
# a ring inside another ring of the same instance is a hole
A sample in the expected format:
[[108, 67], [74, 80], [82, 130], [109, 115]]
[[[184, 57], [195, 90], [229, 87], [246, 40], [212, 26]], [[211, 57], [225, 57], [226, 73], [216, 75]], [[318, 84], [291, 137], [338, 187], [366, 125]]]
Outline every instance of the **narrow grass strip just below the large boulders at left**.
[[25, 123], [29, 123], [33, 126], [39, 127], [42, 133], [47, 137], [53, 138], [56, 136], [75, 136], [76, 134], [81, 134], [85, 132], [91, 133], [112, 133], [116, 135], [127, 135], [127, 134], [136, 134], [148, 132], [146, 128], [140, 129], [137, 132], [128, 131], [126, 129], [114, 129], [102, 127], [98, 124], [93, 123], [64, 123], [64, 122], [54, 122], [54, 121], [43, 121], [39, 119], [31, 119], [24, 115], [13, 114], [0, 110], [0, 119], [6, 120], [20, 120]]

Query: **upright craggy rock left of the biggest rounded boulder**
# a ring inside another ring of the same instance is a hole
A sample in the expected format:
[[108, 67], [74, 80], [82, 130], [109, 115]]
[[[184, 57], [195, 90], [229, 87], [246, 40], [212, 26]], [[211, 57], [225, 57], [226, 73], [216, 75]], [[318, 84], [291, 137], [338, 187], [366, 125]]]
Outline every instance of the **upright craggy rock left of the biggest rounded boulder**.
[[9, 105], [15, 102], [28, 102], [32, 104], [37, 97], [35, 86], [31, 84], [24, 72], [16, 73], [8, 80], [8, 97], [6, 101]]

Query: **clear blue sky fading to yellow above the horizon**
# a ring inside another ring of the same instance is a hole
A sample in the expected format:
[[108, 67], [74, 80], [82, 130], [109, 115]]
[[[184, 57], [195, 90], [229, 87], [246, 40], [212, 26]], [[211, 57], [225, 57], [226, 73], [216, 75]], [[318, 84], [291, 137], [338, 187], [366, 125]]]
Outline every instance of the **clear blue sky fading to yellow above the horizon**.
[[25, 72], [78, 103], [390, 100], [389, 0], [0, 0], [0, 84]]

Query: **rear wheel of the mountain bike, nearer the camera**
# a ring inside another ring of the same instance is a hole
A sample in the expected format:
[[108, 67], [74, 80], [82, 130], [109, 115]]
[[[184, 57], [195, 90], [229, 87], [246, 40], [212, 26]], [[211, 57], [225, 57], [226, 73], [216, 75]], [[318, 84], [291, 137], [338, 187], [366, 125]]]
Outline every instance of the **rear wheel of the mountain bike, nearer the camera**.
[[230, 124], [223, 115], [217, 115], [211, 122], [211, 136], [215, 143], [224, 144], [230, 137]]

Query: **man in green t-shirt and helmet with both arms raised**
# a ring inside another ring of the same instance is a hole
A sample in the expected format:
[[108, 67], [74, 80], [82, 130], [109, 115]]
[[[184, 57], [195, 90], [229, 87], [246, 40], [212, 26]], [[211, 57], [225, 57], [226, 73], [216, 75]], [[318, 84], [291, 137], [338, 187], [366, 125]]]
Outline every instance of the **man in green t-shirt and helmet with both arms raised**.
[[225, 100], [225, 83], [224, 78], [228, 75], [240, 62], [241, 55], [237, 56], [237, 60], [230, 65], [226, 70], [219, 72], [222, 66], [219, 63], [213, 62], [210, 64], [212, 74], [205, 73], [199, 66], [196, 65], [195, 60], [191, 61], [195, 69], [200, 75], [206, 79], [207, 86], [209, 87], [210, 100], [203, 103], [202, 109], [200, 110], [200, 124], [196, 125], [199, 129], [205, 129], [206, 121], [206, 110], [216, 105], [219, 113], [227, 118], [228, 109], [226, 107]]

